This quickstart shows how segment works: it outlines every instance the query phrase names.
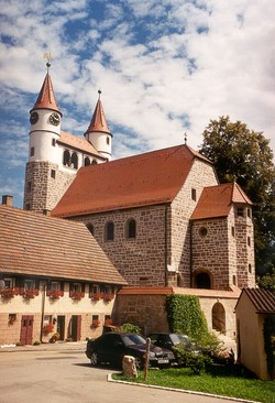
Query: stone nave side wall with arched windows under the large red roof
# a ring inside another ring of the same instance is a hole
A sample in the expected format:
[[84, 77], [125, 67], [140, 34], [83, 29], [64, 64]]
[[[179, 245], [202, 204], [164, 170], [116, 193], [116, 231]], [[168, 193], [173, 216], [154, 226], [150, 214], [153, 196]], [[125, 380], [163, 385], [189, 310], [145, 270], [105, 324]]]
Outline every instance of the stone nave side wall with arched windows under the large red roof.
[[[78, 218], [94, 226], [94, 237], [131, 285], [165, 285], [166, 206], [148, 206], [128, 210], [95, 214]], [[127, 237], [127, 225], [136, 222], [136, 238]], [[114, 225], [113, 241], [106, 241], [108, 221]]]

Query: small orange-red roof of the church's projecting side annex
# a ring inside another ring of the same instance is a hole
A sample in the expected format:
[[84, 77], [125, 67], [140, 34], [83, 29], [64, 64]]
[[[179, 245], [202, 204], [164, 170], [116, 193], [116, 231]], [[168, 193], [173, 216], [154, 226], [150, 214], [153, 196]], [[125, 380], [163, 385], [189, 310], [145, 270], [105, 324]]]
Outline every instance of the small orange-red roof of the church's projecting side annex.
[[205, 187], [190, 219], [227, 217], [232, 203], [252, 204], [237, 183]]

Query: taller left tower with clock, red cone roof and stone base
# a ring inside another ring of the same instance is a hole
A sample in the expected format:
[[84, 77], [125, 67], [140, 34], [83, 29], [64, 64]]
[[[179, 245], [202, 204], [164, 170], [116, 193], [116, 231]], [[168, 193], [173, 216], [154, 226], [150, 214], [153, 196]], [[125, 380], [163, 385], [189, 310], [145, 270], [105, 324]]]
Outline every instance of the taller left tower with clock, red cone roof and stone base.
[[47, 74], [41, 91], [30, 111], [29, 162], [25, 172], [24, 209], [51, 210], [57, 192], [61, 161], [56, 142], [61, 138], [62, 112], [57, 106], [52, 79]]

